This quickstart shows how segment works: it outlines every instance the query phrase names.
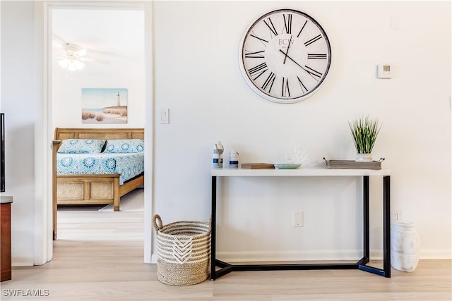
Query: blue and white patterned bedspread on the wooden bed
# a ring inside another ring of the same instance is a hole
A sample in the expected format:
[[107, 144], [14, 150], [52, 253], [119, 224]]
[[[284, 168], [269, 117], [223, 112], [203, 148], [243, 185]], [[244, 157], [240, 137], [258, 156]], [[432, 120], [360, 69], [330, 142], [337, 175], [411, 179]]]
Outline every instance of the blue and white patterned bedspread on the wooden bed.
[[144, 153], [57, 154], [58, 175], [121, 173], [119, 185], [144, 171]]

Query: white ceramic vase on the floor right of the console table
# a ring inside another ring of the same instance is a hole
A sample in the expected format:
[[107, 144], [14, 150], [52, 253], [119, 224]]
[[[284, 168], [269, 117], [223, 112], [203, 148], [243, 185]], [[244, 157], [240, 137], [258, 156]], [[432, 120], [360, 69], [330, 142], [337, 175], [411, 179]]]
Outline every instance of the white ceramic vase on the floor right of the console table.
[[419, 252], [420, 240], [415, 224], [394, 221], [391, 226], [391, 266], [399, 271], [415, 271]]

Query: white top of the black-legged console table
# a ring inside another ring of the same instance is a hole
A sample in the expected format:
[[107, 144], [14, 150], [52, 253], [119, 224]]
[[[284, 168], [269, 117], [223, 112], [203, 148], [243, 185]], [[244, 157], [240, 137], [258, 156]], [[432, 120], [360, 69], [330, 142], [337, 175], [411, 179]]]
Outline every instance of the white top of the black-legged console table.
[[213, 168], [212, 176], [218, 177], [287, 177], [287, 176], [391, 176], [391, 169], [332, 169], [295, 168], [295, 169], [248, 169], [248, 168]]

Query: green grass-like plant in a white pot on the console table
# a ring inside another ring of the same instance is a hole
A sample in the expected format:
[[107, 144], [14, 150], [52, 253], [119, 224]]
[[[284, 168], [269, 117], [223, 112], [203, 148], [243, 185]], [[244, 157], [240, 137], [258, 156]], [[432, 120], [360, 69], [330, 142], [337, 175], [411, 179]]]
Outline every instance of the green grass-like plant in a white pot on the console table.
[[353, 143], [357, 151], [355, 161], [372, 161], [371, 152], [381, 128], [378, 119], [360, 116], [353, 122], [349, 121], [348, 125], [352, 130]]

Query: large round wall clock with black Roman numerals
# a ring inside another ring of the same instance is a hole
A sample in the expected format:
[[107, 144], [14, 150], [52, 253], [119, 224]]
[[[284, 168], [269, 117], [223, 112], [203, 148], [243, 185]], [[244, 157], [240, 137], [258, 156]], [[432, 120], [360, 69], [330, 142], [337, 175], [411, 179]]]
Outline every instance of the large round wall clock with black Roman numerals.
[[246, 30], [239, 63], [254, 92], [272, 102], [292, 104], [319, 90], [331, 65], [330, 42], [307, 13], [271, 11]]

